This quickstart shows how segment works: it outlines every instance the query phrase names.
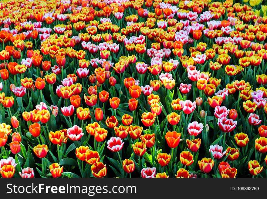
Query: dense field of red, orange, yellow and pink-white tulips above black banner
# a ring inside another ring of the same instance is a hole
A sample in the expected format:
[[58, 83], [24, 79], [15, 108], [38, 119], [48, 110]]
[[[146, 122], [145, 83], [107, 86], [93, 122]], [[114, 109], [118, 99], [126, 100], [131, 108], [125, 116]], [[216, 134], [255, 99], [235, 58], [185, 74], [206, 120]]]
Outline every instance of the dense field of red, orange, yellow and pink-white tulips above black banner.
[[267, 177], [265, 0], [0, 2], [0, 177]]

